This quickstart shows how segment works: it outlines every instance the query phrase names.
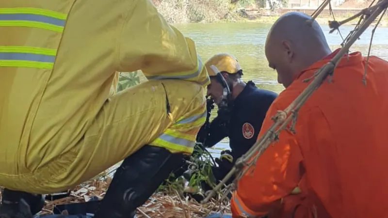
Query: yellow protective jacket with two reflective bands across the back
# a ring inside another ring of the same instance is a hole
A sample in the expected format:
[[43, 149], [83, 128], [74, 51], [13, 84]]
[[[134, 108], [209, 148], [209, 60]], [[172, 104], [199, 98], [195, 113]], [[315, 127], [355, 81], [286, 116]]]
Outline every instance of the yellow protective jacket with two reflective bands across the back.
[[117, 71], [209, 84], [194, 42], [150, 0], [1, 0], [0, 32], [0, 175], [71, 150]]

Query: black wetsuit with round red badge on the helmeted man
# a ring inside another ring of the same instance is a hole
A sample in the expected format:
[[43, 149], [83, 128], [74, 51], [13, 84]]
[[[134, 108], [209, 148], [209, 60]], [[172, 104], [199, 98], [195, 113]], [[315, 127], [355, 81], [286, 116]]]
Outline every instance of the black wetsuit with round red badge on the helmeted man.
[[231, 152], [228, 153], [233, 156], [233, 163], [219, 164], [219, 167], [213, 168], [213, 174], [217, 180], [222, 180], [233, 167], [234, 161], [256, 142], [267, 110], [276, 97], [277, 93], [259, 89], [255, 83], [249, 81], [234, 99], [228, 117], [218, 114], [208, 128], [204, 125], [199, 130], [197, 141], [205, 140], [205, 147], [212, 147], [225, 137], [229, 137]]

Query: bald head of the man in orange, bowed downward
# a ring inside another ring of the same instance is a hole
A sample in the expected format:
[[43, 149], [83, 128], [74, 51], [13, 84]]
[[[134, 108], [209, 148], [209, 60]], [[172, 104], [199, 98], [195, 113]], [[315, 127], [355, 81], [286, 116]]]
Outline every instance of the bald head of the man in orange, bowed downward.
[[279, 17], [268, 33], [265, 55], [269, 66], [276, 69], [278, 82], [288, 87], [295, 74], [330, 54], [323, 31], [311, 17], [289, 12]]

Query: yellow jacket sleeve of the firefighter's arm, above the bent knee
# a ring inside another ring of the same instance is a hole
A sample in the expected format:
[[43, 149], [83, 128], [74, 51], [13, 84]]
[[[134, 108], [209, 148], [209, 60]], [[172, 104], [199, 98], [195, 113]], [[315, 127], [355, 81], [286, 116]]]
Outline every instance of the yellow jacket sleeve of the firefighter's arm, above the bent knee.
[[127, 1], [118, 32], [120, 71], [140, 69], [147, 79], [178, 78], [207, 86], [210, 79], [194, 41], [168, 24], [151, 0]]

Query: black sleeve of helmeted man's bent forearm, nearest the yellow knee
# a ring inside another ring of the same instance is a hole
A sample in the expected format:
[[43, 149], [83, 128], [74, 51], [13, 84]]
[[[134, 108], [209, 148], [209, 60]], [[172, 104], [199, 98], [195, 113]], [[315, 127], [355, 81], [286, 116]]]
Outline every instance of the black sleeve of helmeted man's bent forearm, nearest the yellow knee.
[[197, 141], [203, 142], [202, 140], [205, 139], [204, 146], [210, 148], [227, 137], [226, 132], [221, 131], [221, 122], [222, 119], [220, 117], [216, 117], [210, 122], [208, 129], [206, 129], [206, 126], [203, 125], [197, 134]]

